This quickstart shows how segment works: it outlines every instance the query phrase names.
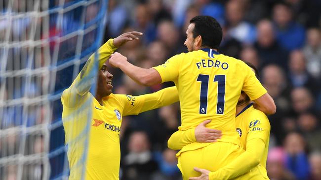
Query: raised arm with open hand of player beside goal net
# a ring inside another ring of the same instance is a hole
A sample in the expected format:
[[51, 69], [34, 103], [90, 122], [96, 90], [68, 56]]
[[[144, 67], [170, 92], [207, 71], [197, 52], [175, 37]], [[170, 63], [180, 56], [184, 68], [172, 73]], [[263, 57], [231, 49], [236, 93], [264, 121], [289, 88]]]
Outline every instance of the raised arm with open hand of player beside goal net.
[[91, 73], [95, 66], [95, 60], [98, 61], [98, 69], [100, 69], [117, 48], [127, 41], [138, 40], [138, 36], [140, 35], [142, 35], [142, 33], [137, 31], [123, 33], [115, 39], [109, 39], [98, 49], [97, 53], [92, 54], [71, 87], [62, 94], [65, 105], [67, 107], [74, 107], [80, 104], [80, 101], [83, 99], [81, 96], [90, 90], [93, 79], [97, 75]]

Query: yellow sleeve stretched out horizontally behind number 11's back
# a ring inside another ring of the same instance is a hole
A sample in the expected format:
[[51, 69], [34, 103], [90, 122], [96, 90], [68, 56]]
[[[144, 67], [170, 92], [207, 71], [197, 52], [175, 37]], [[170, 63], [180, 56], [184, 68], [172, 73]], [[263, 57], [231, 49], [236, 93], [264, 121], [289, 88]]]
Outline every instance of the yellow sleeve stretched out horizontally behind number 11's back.
[[139, 96], [120, 95], [123, 103], [123, 115], [138, 115], [139, 113], [167, 106], [179, 101], [176, 87], [169, 87], [154, 93]]

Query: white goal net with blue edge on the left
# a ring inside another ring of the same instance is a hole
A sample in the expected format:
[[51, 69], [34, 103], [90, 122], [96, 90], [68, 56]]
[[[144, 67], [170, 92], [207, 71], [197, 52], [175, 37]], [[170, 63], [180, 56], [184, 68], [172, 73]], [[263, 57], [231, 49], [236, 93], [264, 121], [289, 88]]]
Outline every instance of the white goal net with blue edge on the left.
[[[107, 4], [0, 1], [0, 180], [68, 179], [60, 98], [101, 45]], [[86, 116], [91, 119], [90, 112]], [[88, 133], [80, 134], [83, 143]]]

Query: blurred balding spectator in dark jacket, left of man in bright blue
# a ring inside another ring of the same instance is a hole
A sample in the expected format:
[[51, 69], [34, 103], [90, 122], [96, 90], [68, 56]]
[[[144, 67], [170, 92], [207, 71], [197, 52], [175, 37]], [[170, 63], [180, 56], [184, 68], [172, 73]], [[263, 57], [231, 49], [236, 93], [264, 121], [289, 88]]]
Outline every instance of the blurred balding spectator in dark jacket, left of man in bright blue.
[[287, 51], [276, 40], [272, 22], [263, 19], [257, 23], [256, 28], [257, 37], [254, 48], [259, 54], [261, 67], [278, 64], [283, 69], [287, 69]]

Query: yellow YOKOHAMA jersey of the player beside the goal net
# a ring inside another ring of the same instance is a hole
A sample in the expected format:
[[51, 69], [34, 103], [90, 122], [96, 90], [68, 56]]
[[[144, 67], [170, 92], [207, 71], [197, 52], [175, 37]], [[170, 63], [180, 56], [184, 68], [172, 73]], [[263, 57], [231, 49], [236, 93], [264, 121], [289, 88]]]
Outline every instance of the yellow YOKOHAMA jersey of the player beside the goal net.
[[[98, 50], [99, 69], [115, 49], [110, 39]], [[95, 72], [94, 60], [94, 56], [89, 58], [61, 97], [69, 179], [119, 180], [122, 117], [177, 102], [178, 92], [176, 87], [170, 87], [140, 96], [111, 93], [103, 98], [101, 106], [88, 92], [90, 72]]]

